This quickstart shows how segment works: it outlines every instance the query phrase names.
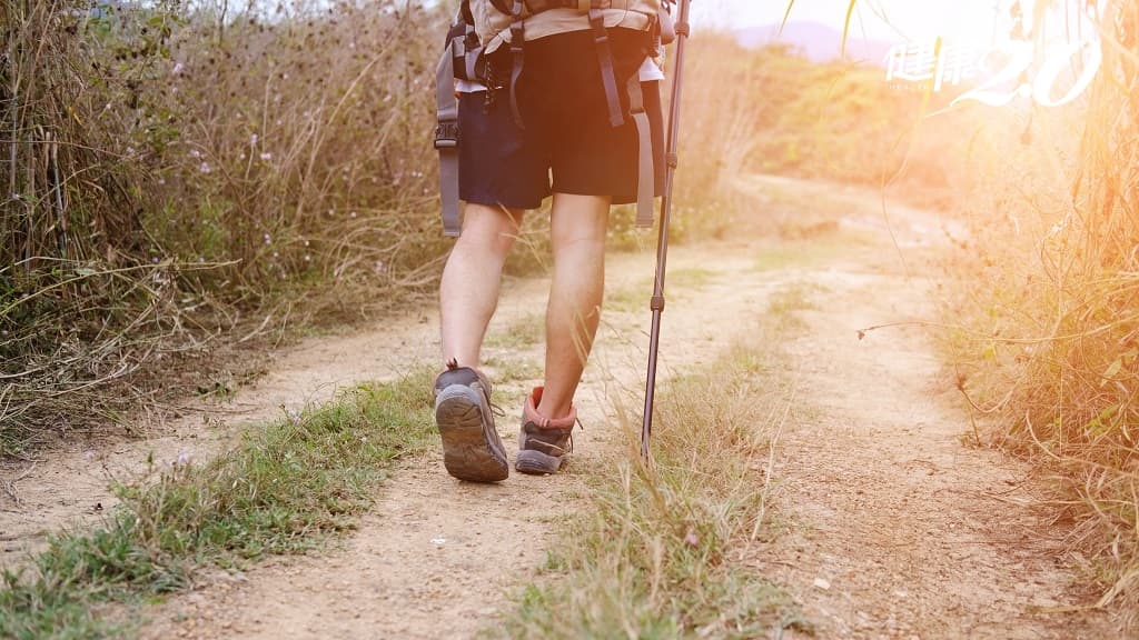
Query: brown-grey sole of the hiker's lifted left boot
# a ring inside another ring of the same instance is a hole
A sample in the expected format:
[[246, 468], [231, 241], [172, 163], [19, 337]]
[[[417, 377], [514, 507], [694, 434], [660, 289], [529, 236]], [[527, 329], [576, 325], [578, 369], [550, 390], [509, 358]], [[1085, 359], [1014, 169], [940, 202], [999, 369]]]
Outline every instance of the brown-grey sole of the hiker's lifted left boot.
[[452, 385], [435, 401], [435, 425], [443, 441], [446, 473], [467, 482], [499, 482], [510, 475], [502, 441], [483, 420], [478, 392]]

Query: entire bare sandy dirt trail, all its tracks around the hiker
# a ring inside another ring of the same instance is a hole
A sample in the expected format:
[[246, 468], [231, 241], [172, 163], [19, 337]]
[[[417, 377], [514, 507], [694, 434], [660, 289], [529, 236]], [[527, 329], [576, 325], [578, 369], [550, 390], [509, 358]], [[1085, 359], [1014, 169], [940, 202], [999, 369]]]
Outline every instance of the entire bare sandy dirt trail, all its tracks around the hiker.
[[[1030, 469], [961, 444], [967, 416], [943, 391], [947, 384], [935, 385], [939, 366], [926, 336], [896, 329], [858, 340], [860, 328], [933, 312], [933, 281], [903, 274], [874, 213], [875, 196], [770, 178], [746, 187], [793, 191], [797, 203], [828, 202], [820, 205], [826, 212], [801, 221], [823, 236], [789, 253], [743, 241], [675, 249], [662, 372], [714, 360], [768, 313], [772, 294], [808, 306], [790, 312], [803, 325], [787, 330], [796, 410], [777, 452], [779, 535], [747, 561], [801, 604], [817, 638], [1112, 637], [1101, 620], [1047, 613], [1074, 604], [1074, 576], [1055, 540], [1063, 532], [1019, 504], [1033, 490], [1025, 481]], [[757, 211], [778, 208], [771, 196], [756, 198]], [[827, 224], [812, 227], [820, 220]], [[942, 227], [928, 214], [894, 210], [898, 246], [915, 272], [923, 270], [920, 256], [944, 238]], [[601, 335], [577, 397], [585, 430], [575, 436], [570, 473], [513, 474], [501, 485], [480, 486], [446, 476], [437, 453], [409, 461], [351, 536], [325, 552], [207, 576], [149, 612], [153, 623], [142, 635], [469, 638], [493, 626], [557, 543], [559, 525], [583, 503], [587, 478], [623, 453], [612, 445], [621, 428], [613, 405], [623, 394], [639, 397], [644, 384], [652, 261], [642, 254], [609, 263]], [[510, 282], [491, 336], [533, 319], [544, 296], [543, 281]], [[236, 407], [251, 417], [272, 416], [281, 404], [296, 408], [353, 381], [434, 362], [436, 326], [426, 313], [312, 340], [243, 389]], [[539, 346], [492, 340], [484, 355], [492, 375], [515, 378], [495, 389], [507, 409], [499, 430], [513, 454], [517, 407], [534, 380], [517, 371], [506, 376], [502, 368], [538, 371]], [[191, 424], [174, 429], [163, 451], [177, 454], [200, 430]], [[117, 456], [137, 463], [146, 445], [122, 445]], [[81, 452], [72, 456], [84, 465]], [[44, 465], [26, 486], [40, 485], [36, 500], [58, 502], [59, 491], [75, 489], [58, 481], [66, 471]], [[69, 500], [96, 500], [95, 485], [79, 487]], [[57, 510], [71, 517], [82, 511]], [[54, 516], [21, 517], [48, 526]], [[11, 523], [10, 512], [0, 512], [0, 528]]]

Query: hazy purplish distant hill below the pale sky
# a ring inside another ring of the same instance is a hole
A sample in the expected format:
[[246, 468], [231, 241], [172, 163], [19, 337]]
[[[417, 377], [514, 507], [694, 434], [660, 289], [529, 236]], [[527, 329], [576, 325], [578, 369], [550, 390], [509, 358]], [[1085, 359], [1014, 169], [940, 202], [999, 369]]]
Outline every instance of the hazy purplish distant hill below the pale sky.
[[[818, 63], [838, 59], [843, 43], [841, 31], [813, 22], [788, 23], [781, 34], [779, 25], [772, 24], [737, 30], [735, 35], [740, 44], [748, 48], [785, 43]], [[846, 40], [846, 59], [884, 66], [891, 47], [893, 47], [891, 42], [867, 40], [857, 33], [851, 33]]]

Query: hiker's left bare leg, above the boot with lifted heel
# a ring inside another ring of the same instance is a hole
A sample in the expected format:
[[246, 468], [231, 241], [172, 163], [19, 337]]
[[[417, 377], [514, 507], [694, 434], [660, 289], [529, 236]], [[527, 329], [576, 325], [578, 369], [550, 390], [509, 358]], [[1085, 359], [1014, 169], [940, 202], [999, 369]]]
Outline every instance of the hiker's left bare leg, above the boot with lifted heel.
[[477, 367], [486, 326], [498, 306], [502, 264], [518, 235], [521, 210], [467, 204], [462, 236], [440, 282], [443, 362]]

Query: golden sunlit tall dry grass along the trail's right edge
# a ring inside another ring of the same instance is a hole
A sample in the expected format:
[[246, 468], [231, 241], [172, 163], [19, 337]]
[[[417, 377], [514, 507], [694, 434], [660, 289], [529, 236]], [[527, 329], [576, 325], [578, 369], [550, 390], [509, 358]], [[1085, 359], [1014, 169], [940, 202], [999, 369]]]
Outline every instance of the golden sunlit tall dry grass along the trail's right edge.
[[[1083, 108], [1021, 114], [1014, 131], [1025, 136], [993, 143], [1003, 166], [978, 180], [984, 197], [973, 202], [1003, 224], [990, 215], [990, 229], [964, 247], [967, 296], [953, 311], [970, 320], [953, 337], [954, 367], [993, 441], [1057, 478], [1050, 504], [1090, 559], [1103, 594], [1096, 606], [1120, 612], [1133, 633], [1139, 8], [1113, 3], [1103, 31], [1104, 68]], [[1083, 132], [1077, 148], [1062, 142], [1073, 130]]]

